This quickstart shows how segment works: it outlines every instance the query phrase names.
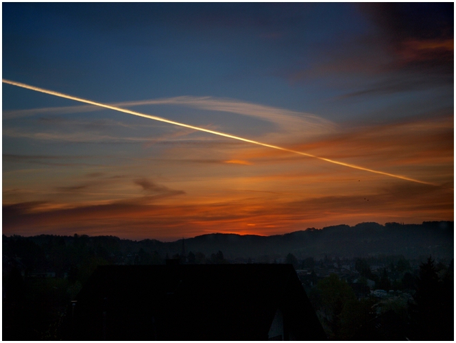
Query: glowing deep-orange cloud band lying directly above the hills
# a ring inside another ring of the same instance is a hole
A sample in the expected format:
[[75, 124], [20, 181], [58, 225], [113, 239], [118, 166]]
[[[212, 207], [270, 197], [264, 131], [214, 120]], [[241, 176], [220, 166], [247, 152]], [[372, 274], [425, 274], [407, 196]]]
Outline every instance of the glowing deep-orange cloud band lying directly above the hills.
[[[149, 180], [136, 181], [145, 190], [157, 189]], [[163, 188], [159, 186], [158, 190], [163, 191]], [[311, 226], [352, 225], [362, 220], [388, 222], [397, 217], [417, 218], [417, 213], [420, 213], [418, 219], [412, 220], [451, 220], [453, 217], [453, 191], [414, 183], [396, 183], [358, 195], [295, 201], [269, 198], [267, 205], [263, 198], [206, 204], [157, 204], [151, 202], [152, 198], [81, 204], [67, 209], [52, 208], [52, 204], [45, 202], [3, 205], [3, 233], [14, 230], [14, 233], [34, 235], [38, 232], [35, 230], [39, 230], [40, 233], [69, 235], [76, 232], [74, 230], [87, 230], [91, 235], [160, 238], [189, 237], [204, 230], [214, 232], [216, 228], [217, 232], [255, 233], [254, 230], [258, 230], [263, 235], [272, 235]]]

